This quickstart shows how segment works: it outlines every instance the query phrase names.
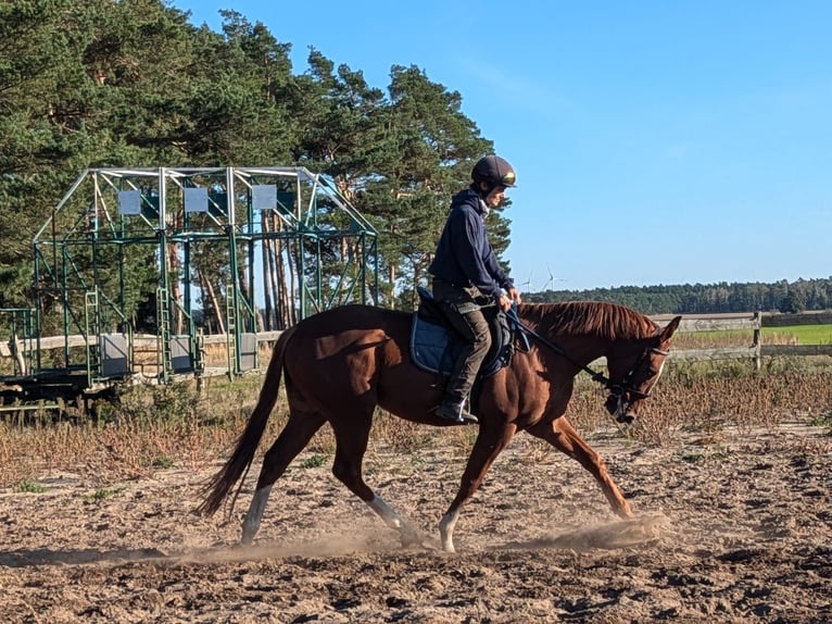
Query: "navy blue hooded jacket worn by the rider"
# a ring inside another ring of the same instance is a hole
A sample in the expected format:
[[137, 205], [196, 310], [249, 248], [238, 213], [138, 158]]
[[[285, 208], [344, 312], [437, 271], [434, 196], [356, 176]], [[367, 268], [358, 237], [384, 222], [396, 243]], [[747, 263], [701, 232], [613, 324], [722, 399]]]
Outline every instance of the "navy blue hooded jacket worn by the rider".
[[499, 297], [512, 280], [501, 269], [486, 233], [486, 203], [472, 189], [457, 192], [428, 272], [457, 286], [476, 286]]

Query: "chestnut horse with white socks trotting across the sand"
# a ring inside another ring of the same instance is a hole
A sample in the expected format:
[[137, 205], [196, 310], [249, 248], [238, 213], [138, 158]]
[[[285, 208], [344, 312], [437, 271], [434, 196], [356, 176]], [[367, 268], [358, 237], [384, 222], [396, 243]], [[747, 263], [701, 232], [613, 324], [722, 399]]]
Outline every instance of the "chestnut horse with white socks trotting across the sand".
[[[661, 374], [681, 316], [663, 329], [647, 316], [612, 303], [524, 303], [516, 314], [531, 336], [531, 348], [516, 352], [509, 366], [482, 382], [477, 440], [459, 490], [439, 525], [445, 551], [454, 551], [453, 532], [461, 508], [520, 430], [580, 462], [598, 482], [615, 513], [632, 516], [602, 459], [564, 414], [575, 376], [605, 357], [608, 378], [601, 378], [610, 392], [607, 409], [618, 421], [631, 422]], [[442, 392], [437, 375], [411, 360], [412, 324], [411, 313], [345, 305], [310, 316], [283, 332], [275, 345], [257, 404], [231, 457], [206, 485], [206, 498], [197, 511], [209, 515], [216, 512], [248, 473], [282, 375], [288, 422], [263, 459], [242, 524], [242, 542], [254, 539], [274, 483], [327, 422], [336, 438], [335, 476], [396, 529], [403, 542], [418, 541], [413, 526], [362, 476], [377, 405], [416, 423], [454, 424], [433, 413]]]

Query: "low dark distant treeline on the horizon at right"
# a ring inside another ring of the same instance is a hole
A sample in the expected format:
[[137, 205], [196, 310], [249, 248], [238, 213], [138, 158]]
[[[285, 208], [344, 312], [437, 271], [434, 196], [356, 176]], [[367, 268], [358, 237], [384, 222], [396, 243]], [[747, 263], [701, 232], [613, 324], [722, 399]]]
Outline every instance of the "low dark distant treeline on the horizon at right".
[[782, 279], [773, 284], [731, 283], [669, 286], [620, 286], [592, 290], [544, 290], [529, 292], [524, 300], [538, 303], [560, 301], [610, 301], [644, 314], [713, 314], [718, 312], [804, 312], [832, 309], [832, 277]]

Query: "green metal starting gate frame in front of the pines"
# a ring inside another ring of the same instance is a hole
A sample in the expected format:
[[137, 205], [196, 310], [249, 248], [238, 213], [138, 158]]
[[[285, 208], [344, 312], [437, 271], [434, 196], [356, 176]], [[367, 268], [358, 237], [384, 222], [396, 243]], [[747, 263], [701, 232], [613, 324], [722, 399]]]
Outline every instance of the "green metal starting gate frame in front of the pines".
[[0, 311], [16, 355], [0, 382], [28, 391], [136, 374], [148, 325], [159, 383], [205, 374], [209, 311], [234, 376], [256, 367], [264, 330], [378, 303], [376, 229], [304, 167], [90, 169], [33, 250], [33, 309]]

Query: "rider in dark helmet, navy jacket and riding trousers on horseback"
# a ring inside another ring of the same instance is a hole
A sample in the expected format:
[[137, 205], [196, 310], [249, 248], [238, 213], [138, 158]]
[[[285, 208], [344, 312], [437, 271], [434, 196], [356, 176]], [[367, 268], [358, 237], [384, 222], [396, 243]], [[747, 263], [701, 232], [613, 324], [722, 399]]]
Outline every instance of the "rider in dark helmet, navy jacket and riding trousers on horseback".
[[437, 415], [457, 423], [476, 423], [465, 409], [482, 360], [491, 347], [491, 332], [481, 308], [495, 302], [503, 310], [520, 302], [520, 292], [497, 263], [486, 233], [489, 210], [515, 186], [514, 169], [499, 155], [481, 158], [471, 171], [471, 185], [451, 200], [451, 213], [428, 267], [433, 298], [451, 325], [466, 340], [445, 386]]

